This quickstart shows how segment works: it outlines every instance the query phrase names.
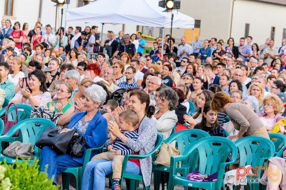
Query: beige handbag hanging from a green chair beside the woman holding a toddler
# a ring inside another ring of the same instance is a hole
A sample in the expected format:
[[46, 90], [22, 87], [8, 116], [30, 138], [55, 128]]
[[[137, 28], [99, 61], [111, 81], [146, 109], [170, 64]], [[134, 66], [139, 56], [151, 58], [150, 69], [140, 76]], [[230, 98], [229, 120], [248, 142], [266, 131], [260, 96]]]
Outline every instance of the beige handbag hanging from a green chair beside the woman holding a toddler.
[[[170, 166], [171, 156], [178, 156], [180, 151], [178, 148], [172, 147], [169, 143], [164, 143], [161, 145], [161, 149], [158, 153], [157, 159], [155, 160], [155, 164]], [[180, 163], [179, 163], [180, 164]]]

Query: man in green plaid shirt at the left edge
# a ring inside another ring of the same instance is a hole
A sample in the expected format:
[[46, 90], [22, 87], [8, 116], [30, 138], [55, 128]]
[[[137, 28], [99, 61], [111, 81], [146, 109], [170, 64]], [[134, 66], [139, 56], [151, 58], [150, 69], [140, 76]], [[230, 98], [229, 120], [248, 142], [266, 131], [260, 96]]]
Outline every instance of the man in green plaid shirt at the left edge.
[[15, 95], [15, 85], [8, 79], [8, 74], [10, 72], [10, 66], [6, 62], [0, 62], [0, 88], [5, 91], [5, 97], [11, 100]]

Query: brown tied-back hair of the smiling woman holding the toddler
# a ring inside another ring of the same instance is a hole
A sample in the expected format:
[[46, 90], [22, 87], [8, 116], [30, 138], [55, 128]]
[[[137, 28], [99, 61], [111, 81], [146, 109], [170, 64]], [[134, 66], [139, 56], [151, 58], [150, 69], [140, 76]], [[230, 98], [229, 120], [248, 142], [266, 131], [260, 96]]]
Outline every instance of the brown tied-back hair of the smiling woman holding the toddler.
[[138, 97], [138, 99], [140, 100], [141, 104], [143, 104], [144, 102], [146, 103], [146, 107], [145, 107], [145, 115], [149, 118], [152, 117], [152, 115], [155, 113], [155, 107], [153, 105], [150, 105], [150, 97], [149, 95], [142, 91], [142, 90], [133, 90], [130, 93], [130, 97], [136, 95]]

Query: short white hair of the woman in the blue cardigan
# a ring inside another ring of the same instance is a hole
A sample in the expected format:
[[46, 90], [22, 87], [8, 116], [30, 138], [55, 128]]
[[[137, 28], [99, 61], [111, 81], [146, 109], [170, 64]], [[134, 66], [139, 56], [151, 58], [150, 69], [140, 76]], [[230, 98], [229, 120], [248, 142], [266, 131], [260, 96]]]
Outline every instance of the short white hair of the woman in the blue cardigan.
[[91, 100], [94, 103], [100, 103], [98, 108], [104, 104], [107, 95], [105, 90], [100, 85], [91, 85], [90, 87], [86, 88], [84, 95], [86, 96], [87, 94], [91, 96]]

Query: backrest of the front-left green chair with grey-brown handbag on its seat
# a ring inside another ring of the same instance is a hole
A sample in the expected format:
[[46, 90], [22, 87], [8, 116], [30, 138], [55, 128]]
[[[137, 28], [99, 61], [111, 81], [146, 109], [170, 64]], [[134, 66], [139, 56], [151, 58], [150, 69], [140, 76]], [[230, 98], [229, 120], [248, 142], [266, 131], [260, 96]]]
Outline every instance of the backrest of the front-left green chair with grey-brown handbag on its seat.
[[[48, 119], [43, 119], [43, 118], [29, 118], [25, 119], [21, 122], [18, 122], [13, 126], [13, 128], [19, 128], [20, 129], [20, 134], [19, 137], [22, 139], [23, 143], [32, 143], [33, 148], [35, 150], [36, 156], [41, 155], [41, 149], [39, 149], [35, 143], [41, 136], [41, 134], [49, 127], [55, 127], [55, 123]], [[13, 130], [11, 128], [10, 130]], [[10, 132], [10, 131], [9, 131]], [[8, 133], [9, 133], [8, 132]], [[7, 133], [7, 134], [8, 134]]]

